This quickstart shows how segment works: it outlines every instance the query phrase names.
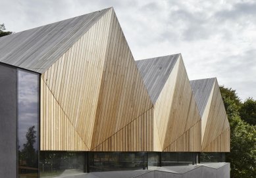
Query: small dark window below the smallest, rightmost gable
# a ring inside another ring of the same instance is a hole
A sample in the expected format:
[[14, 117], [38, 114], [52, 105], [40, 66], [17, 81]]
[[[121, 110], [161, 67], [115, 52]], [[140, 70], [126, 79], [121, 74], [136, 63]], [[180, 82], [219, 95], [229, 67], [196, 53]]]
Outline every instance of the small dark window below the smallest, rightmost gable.
[[201, 152], [199, 159], [200, 159], [200, 163], [225, 162], [225, 153], [224, 152]]

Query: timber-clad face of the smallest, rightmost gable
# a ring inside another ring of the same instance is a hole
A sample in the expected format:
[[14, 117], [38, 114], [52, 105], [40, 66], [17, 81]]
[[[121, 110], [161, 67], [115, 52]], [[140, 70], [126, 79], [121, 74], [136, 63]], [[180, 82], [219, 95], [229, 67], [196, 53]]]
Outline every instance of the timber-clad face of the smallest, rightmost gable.
[[208, 113], [203, 114], [207, 118], [202, 118], [206, 122], [202, 135], [202, 151], [230, 152], [230, 126], [217, 79], [204, 112]]

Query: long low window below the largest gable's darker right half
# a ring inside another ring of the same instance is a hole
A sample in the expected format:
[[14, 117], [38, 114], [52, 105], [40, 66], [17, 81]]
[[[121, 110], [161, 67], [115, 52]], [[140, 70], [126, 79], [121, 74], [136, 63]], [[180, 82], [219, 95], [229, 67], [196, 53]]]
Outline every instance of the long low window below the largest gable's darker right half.
[[90, 171], [143, 169], [143, 156], [143, 152], [91, 152]]

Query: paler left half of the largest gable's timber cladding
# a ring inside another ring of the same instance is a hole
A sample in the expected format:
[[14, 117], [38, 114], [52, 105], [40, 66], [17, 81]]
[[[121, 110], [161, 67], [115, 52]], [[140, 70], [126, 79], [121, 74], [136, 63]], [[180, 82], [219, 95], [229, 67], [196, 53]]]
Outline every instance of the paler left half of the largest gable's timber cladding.
[[90, 150], [111, 16], [41, 75], [41, 150]]

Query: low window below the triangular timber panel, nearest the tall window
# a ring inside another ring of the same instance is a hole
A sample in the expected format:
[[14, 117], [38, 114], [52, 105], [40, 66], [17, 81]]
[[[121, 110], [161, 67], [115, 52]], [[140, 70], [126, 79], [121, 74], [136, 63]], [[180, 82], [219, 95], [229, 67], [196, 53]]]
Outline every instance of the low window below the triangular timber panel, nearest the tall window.
[[40, 177], [84, 173], [84, 152], [40, 152]]

